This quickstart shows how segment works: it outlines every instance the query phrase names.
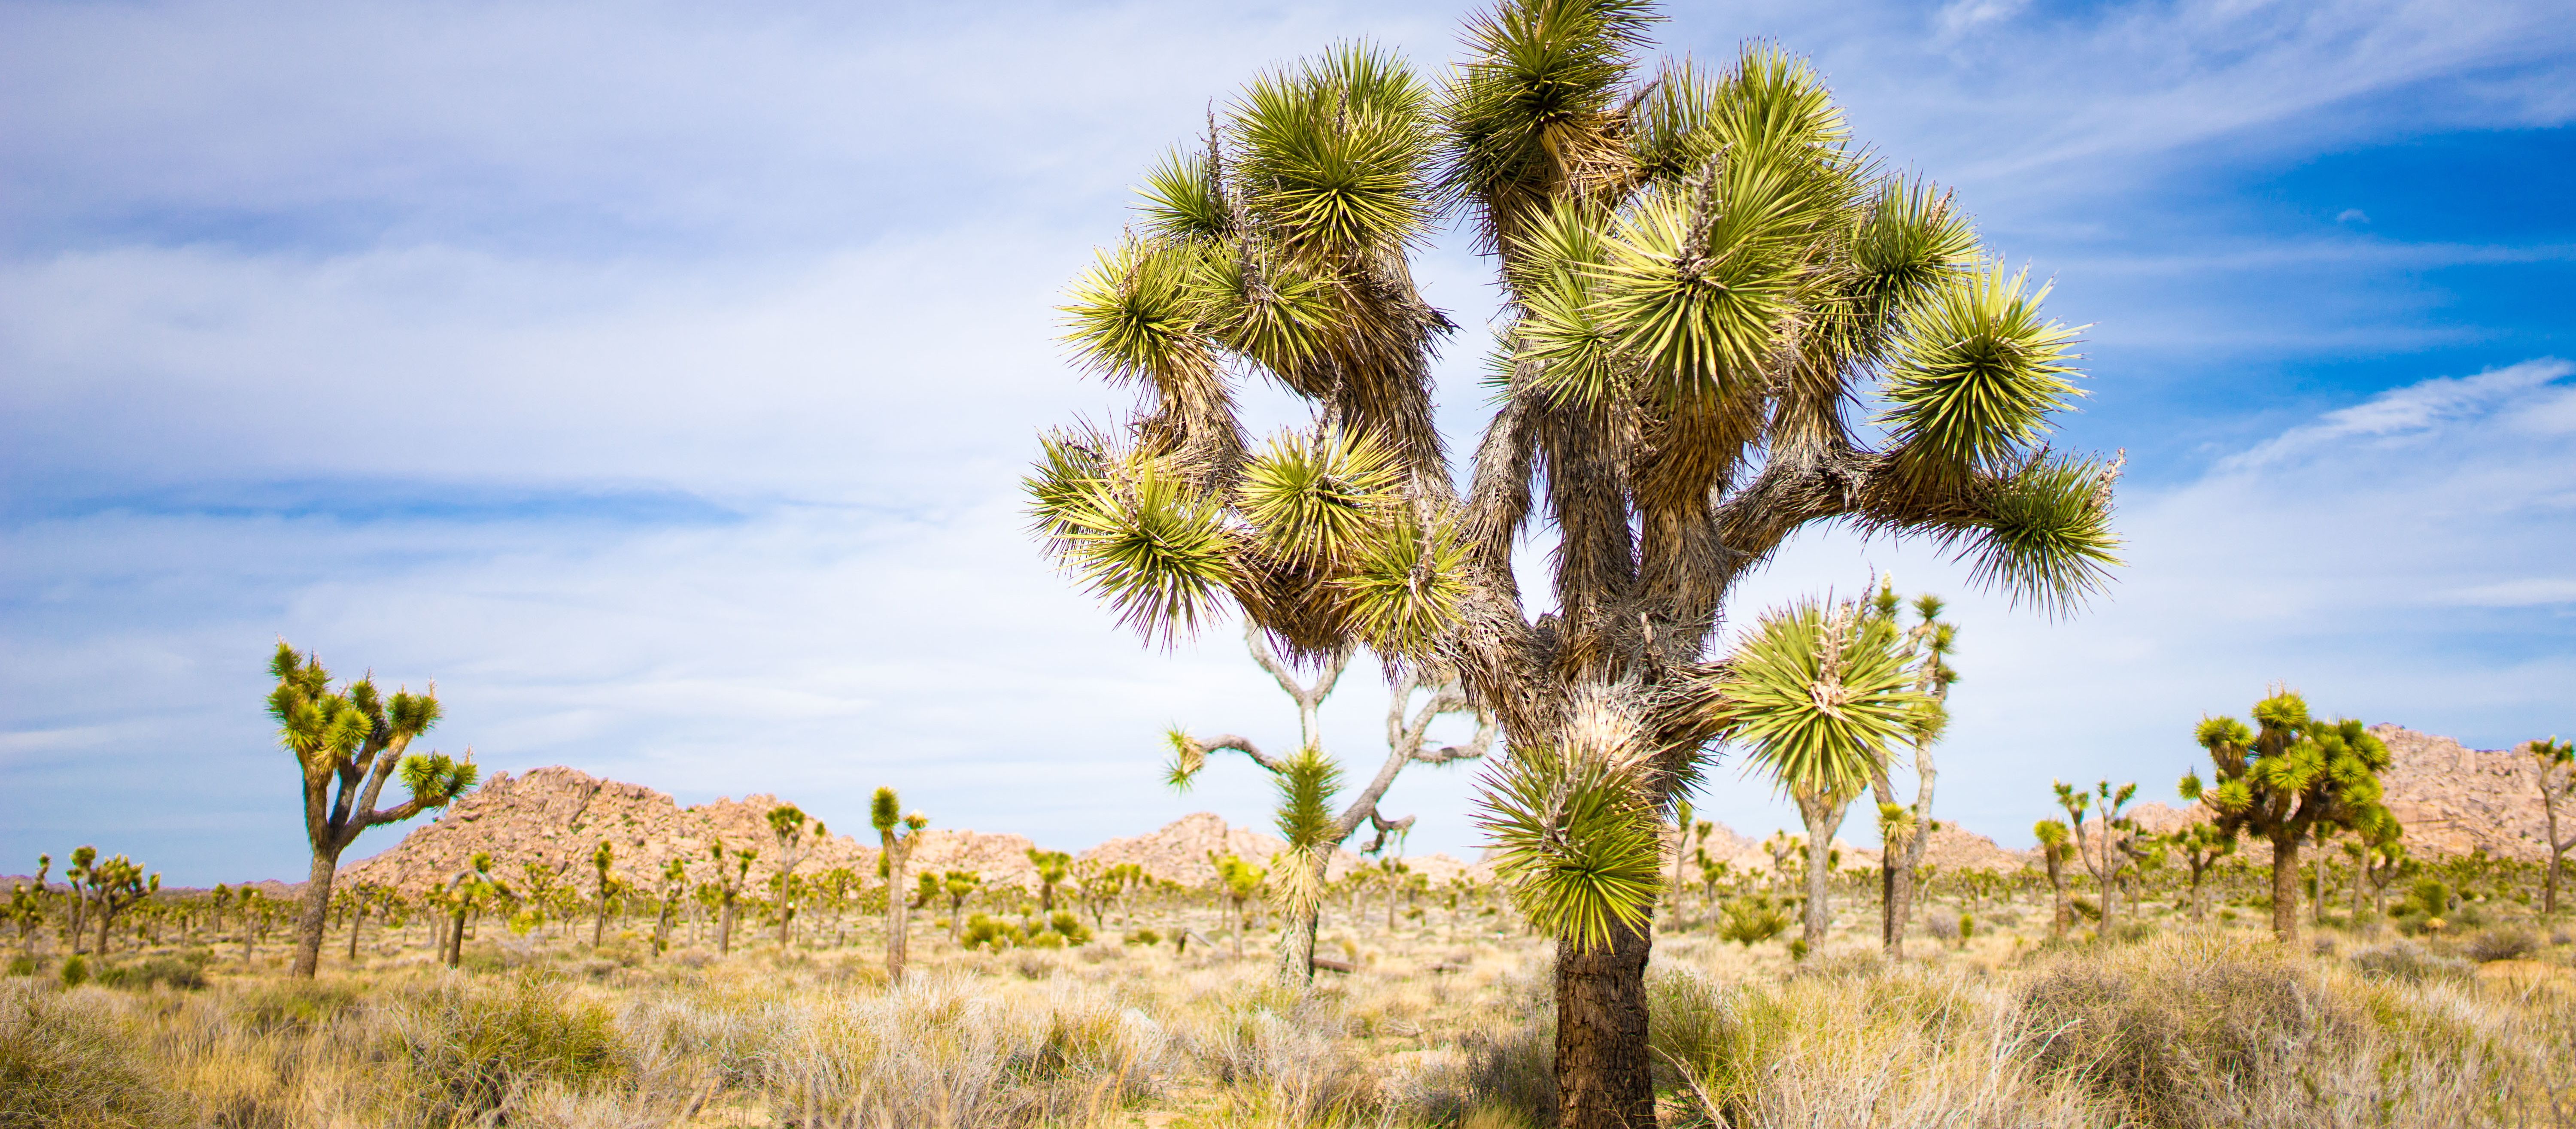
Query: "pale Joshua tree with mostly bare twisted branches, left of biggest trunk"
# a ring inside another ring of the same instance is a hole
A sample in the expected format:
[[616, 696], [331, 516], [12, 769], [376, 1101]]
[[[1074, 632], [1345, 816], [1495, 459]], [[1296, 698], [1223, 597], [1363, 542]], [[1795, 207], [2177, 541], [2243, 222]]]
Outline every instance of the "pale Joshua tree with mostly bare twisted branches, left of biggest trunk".
[[[1401, 668], [1386, 701], [1386, 763], [1381, 763], [1378, 776], [1373, 776], [1368, 786], [1363, 786], [1360, 794], [1342, 807], [1342, 815], [1332, 815], [1329, 802], [1332, 794], [1340, 791], [1337, 784], [1342, 778], [1342, 766], [1321, 753], [1316, 709], [1327, 696], [1332, 696], [1334, 683], [1342, 678], [1350, 647], [1337, 647], [1324, 655], [1324, 668], [1314, 683], [1296, 680], [1288, 665], [1273, 652], [1262, 624], [1249, 616], [1244, 619], [1244, 647], [1252, 650], [1252, 660], [1260, 662], [1262, 670], [1267, 670], [1270, 678], [1275, 678], [1298, 704], [1298, 753], [1285, 758], [1262, 755], [1249, 737], [1224, 735], [1198, 740], [1188, 732], [1172, 729], [1172, 771], [1167, 778], [1175, 789], [1188, 789], [1198, 771], [1208, 763], [1208, 753], [1216, 750], [1242, 753], [1275, 778], [1280, 789], [1280, 835], [1288, 835], [1291, 848], [1291, 858], [1280, 864], [1280, 879], [1273, 884], [1273, 897], [1280, 900], [1280, 910], [1285, 912], [1278, 977], [1283, 985], [1303, 987], [1314, 982], [1314, 931], [1321, 918], [1321, 887], [1324, 871], [1332, 866], [1332, 853], [1360, 830], [1360, 822], [1368, 822], [1376, 830], [1370, 845], [1363, 848], [1368, 853], [1383, 848], [1388, 835], [1401, 835], [1412, 827], [1414, 817], [1409, 815], [1401, 820], [1386, 820], [1378, 812], [1378, 802], [1386, 796], [1386, 789], [1394, 786], [1396, 776], [1414, 763], [1445, 766], [1481, 758], [1494, 742], [1494, 717], [1476, 711], [1455, 678], [1445, 678], [1437, 670], [1432, 678], [1425, 678], [1417, 668]], [[1422, 696], [1419, 706], [1414, 706], [1417, 693]], [[1476, 737], [1466, 745], [1427, 750], [1430, 727], [1443, 714], [1476, 714]], [[1314, 753], [1314, 760], [1306, 760], [1306, 753]], [[1293, 778], [1298, 771], [1309, 773], [1309, 778]], [[1316, 822], [1306, 815], [1291, 820], [1288, 809], [1298, 804], [1298, 791], [1311, 791], [1316, 784], [1324, 784], [1316, 799], [1319, 804], [1327, 804], [1321, 820]], [[1296, 822], [1293, 833], [1291, 822]]]

